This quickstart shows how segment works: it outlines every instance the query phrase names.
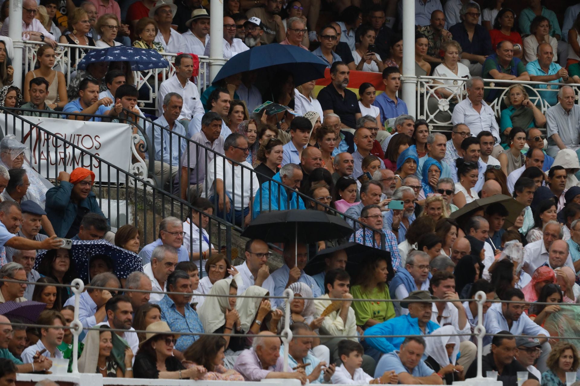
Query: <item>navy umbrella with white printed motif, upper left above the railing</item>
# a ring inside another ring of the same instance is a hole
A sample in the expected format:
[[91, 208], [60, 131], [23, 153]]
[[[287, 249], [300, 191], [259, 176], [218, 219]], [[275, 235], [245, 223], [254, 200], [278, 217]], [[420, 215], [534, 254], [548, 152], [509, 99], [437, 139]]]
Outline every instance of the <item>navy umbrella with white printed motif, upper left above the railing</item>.
[[169, 62], [155, 50], [137, 47], [117, 46], [90, 50], [77, 64], [78, 69], [86, 69], [91, 63], [129, 62], [133, 71], [144, 71], [152, 68], [167, 68]]

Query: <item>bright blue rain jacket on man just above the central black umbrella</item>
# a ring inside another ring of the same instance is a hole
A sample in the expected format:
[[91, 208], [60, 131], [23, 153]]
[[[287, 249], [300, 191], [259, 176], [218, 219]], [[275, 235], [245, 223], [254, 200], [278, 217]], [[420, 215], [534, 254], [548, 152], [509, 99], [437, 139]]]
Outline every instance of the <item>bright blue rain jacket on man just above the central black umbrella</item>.
[[[260, 203], [262, 203], [262, 211], [285, 211], [287, 209], [306, 209], [302, 198], [298, 197], [298, 193], [292, 192], [288, 206], [288, 192], [284, 186], [281, 185], [282, 177], [280, 172], [277, 172], [274, 181], [266, 181], [260, 186], [256, 192], [256, 198], [252, 205], [252, 218], [256, 218], [260, 214]], [[280, 196], [280, 207], [278, 207], [278, 196]], [[271, 207], [270, 207], [271, 204]]]

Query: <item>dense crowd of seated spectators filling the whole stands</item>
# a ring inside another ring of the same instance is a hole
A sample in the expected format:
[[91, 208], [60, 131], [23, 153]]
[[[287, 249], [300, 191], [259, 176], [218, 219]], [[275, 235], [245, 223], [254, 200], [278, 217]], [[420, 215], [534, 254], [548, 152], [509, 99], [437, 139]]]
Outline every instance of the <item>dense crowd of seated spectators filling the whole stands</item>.
[[[119, 274], [107, 256], [92, 256], [79, 306], [84, 373], [451, 384], [476, 376], [477, 304], [460, 300], [478, 291], [489, 300], [484, 375], [496, 371], [512, 386], [527, 371], [525, 386], [560, 386], [578, 370], [577, 341], [558, 339], [574, 328], [554, 322], [573, 313], [565, 303], [580, 303], [580, 107], [567, 85], [580, 82], [577, 5], [560, 28], [538, 0], [519, 14], [502, 1], [482, 9], [469, 0], [416, 0], [415, 73], [434, 77], [418, 91], [432, 115], [425, 120], [401, 99], [401, 1], [398, 9], [333, 2], [338, 17], [322, 24], [320, 0], [229, 0], [222, 41], [210, 39], [209, 6], [198, 1], [90, 0], [63, 9], [54, 1], [23, 2], [23, 36], [45, 44], [22, 85], [12, 84], [2, 37], [0, 105], [24, 116], [130, 123], [153, 145], [153, 159], [135, 149], [154, 163], [160, 188], [191, 210], [185, 220], [162, 219], [157, 238], [143, 245], [135, 226], [111, 231], [92, 171], [60, 172], [53, 184], [28, 164], [26, 146], [5, 135], [0, 303], [45, 303], [35, 322], [52, 327], [0, 315], [10, 323], [0, 329], [0, 380], [48, 370], [53, 359], [72, 362], [66, 327], [75, 298], [61, 285], [79, 276], [78, 256], [59, 238], [106, 240], [142, 263]], [[0, 35], [8, 26], [5, 17]], [[316, 93], [316, 81], [295, 84], [277, 72], [262, 93], [261, 74], [252, 71], [200, 90], [190, 53], [208, 55], [211, 40], [227, 59], [276, 43], [309, 50], [327, 64], [330, 83]], [[160, 83], [153, 105], [141, 106], [148, 115], [136, 105], [147, 87], [135, 87], [126, 63], [77, 69], [83, 52], [71, 50], [67, 84], [56, 42], [177, 54], [175, 74]], [[357, 97], [351, 71], [382, 73], [384, 91], [362, 83]], [[252, 113], [268, 100], [288, 109]], [[451, 130], [433, 130], [433, 117]], [[499, 194], [506, 201], [452, 215]], [[235, 266], [208, 231], [210, 216], [244, 228], [282, 209], [324, 211], [353, 232], [313, 245], [254, 238]], [[369, 249], [355, 269], [356, 244]], [[283, 260], [276, 270], [273, 251]], [[324, 269], [309, 275], [313, 259]], [[278, 337], [284, 300], [270, 299], [286, 288], [295, 294], [288, 371]], [[498, 299], [508, 303], [492, 303]], [[393, 337], [401, 335], [414, 337]]]

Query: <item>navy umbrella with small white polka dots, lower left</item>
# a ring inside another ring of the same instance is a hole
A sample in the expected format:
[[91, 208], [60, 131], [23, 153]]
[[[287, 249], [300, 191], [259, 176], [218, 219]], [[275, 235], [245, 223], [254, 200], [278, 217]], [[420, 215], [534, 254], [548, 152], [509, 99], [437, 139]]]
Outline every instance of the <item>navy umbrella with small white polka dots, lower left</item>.
[[[42, 260], [47, 258], [47, 253], [50, 251], [37, 256], [34, 269], [38, 269]], [[71, 267], [77, 277], [84, 282], [89, 281], [89, 260], [95, 255], [107, 255], [113, 262], [113, 273], [119, 279], [126, 278], [133, 271], [143, 271], [143, 260], [136, 253], [117, 247], [106, 240], [73, 240], [69, 252]]]

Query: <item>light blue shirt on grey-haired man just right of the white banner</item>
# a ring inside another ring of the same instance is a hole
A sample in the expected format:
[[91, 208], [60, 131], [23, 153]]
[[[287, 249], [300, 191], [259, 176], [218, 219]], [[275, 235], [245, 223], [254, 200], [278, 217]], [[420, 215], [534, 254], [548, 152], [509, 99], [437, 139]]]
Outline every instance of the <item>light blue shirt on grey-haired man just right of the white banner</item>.
[[[164, 116], [158, 117], [157, 120], [154, 120], [153, 122], [169, 129], [169, 123], [167, 123]], [[161, 128], [155, 126], [155, 130], [153, 130], [152, 126], [152, 124], [148, 125], [145, 132], [149, 138], [153, 139], [155, 161], [164, 161], [166, 164], [179, 166], [179, 159], [186, 152], [188, 145], [187, 140], [170, 133], [177, 133], [187, 137], [183, 125], [178, 121], [175, 121], [173, 122], [173, 129], [171, 131], [163, 130], [163, 146], [161, 146]]]

